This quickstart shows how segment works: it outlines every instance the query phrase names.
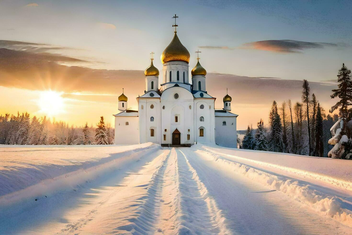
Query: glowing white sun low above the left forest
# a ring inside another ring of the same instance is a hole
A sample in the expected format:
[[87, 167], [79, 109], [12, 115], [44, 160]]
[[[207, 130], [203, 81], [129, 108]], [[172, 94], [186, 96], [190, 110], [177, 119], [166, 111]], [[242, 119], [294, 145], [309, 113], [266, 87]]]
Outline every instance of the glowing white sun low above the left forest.
[[43, 112], [49, 117], [57, 115], [64, 111], [64, 98], [63, 92], [56, 91], [42, 91], [37, 104], [40, 108], [39, 112]]

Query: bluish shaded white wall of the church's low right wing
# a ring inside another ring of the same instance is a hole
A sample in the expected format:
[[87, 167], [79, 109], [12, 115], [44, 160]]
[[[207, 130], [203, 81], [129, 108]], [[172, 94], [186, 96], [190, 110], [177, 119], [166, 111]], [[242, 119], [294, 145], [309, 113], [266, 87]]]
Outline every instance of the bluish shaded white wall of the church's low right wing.
[[[222, 122], [226, 122], [226, 126]], [[227, 148], [237, 148], [236, 117], [215, 117], [215, 143]]]

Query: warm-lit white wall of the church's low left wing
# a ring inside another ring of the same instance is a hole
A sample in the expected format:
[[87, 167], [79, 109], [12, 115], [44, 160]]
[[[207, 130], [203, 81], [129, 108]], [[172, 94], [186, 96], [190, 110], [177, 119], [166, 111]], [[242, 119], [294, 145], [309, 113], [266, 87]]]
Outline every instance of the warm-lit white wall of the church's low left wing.
[[[128, 122], [128, 125], [126, 125]], [[115, 116], [115, 144], [138, 144], [138, 117]]]

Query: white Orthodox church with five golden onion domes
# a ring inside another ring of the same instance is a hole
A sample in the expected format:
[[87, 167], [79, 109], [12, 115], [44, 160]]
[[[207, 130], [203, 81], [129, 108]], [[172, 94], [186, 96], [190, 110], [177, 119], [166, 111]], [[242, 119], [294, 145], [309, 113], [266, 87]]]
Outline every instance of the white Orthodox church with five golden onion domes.
[[[215, 99], [207, 92], [207, 71], [199, 62], [191, 70], [190, 54], [177, 37], [161, 55], [162, 82], [153, 65], [145, 69], [145, 91], [137, 97], [138, 111], [127, 108], [127, 97], [119, 96], [115, 116], [115, 144], [153, 142], [161, 146], [190, 147], [198, 142], [237, 148], [236, 118], [231, 113], [230, 95], [223, 98], [222, 109], [215, 109]], [[199, 55], [200, 51], [196, 51]], [[152, 54], [153, 55], [153, 54]], [[225, 89], [224, 89], [225, 90]]]

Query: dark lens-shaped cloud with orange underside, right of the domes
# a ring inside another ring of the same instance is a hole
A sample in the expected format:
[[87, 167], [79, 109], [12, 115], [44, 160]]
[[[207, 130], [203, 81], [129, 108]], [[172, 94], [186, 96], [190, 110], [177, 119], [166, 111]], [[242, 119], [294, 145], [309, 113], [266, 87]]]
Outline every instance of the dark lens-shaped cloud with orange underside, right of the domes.
[[323, 42], [302, 42], [295, 40], [266, 40], [245, 43], [243, 48], [272, 51], [279, 53], [300, 53], [306, 49], [322, 49], [325, 47], [337, 47], [338, 44]]

